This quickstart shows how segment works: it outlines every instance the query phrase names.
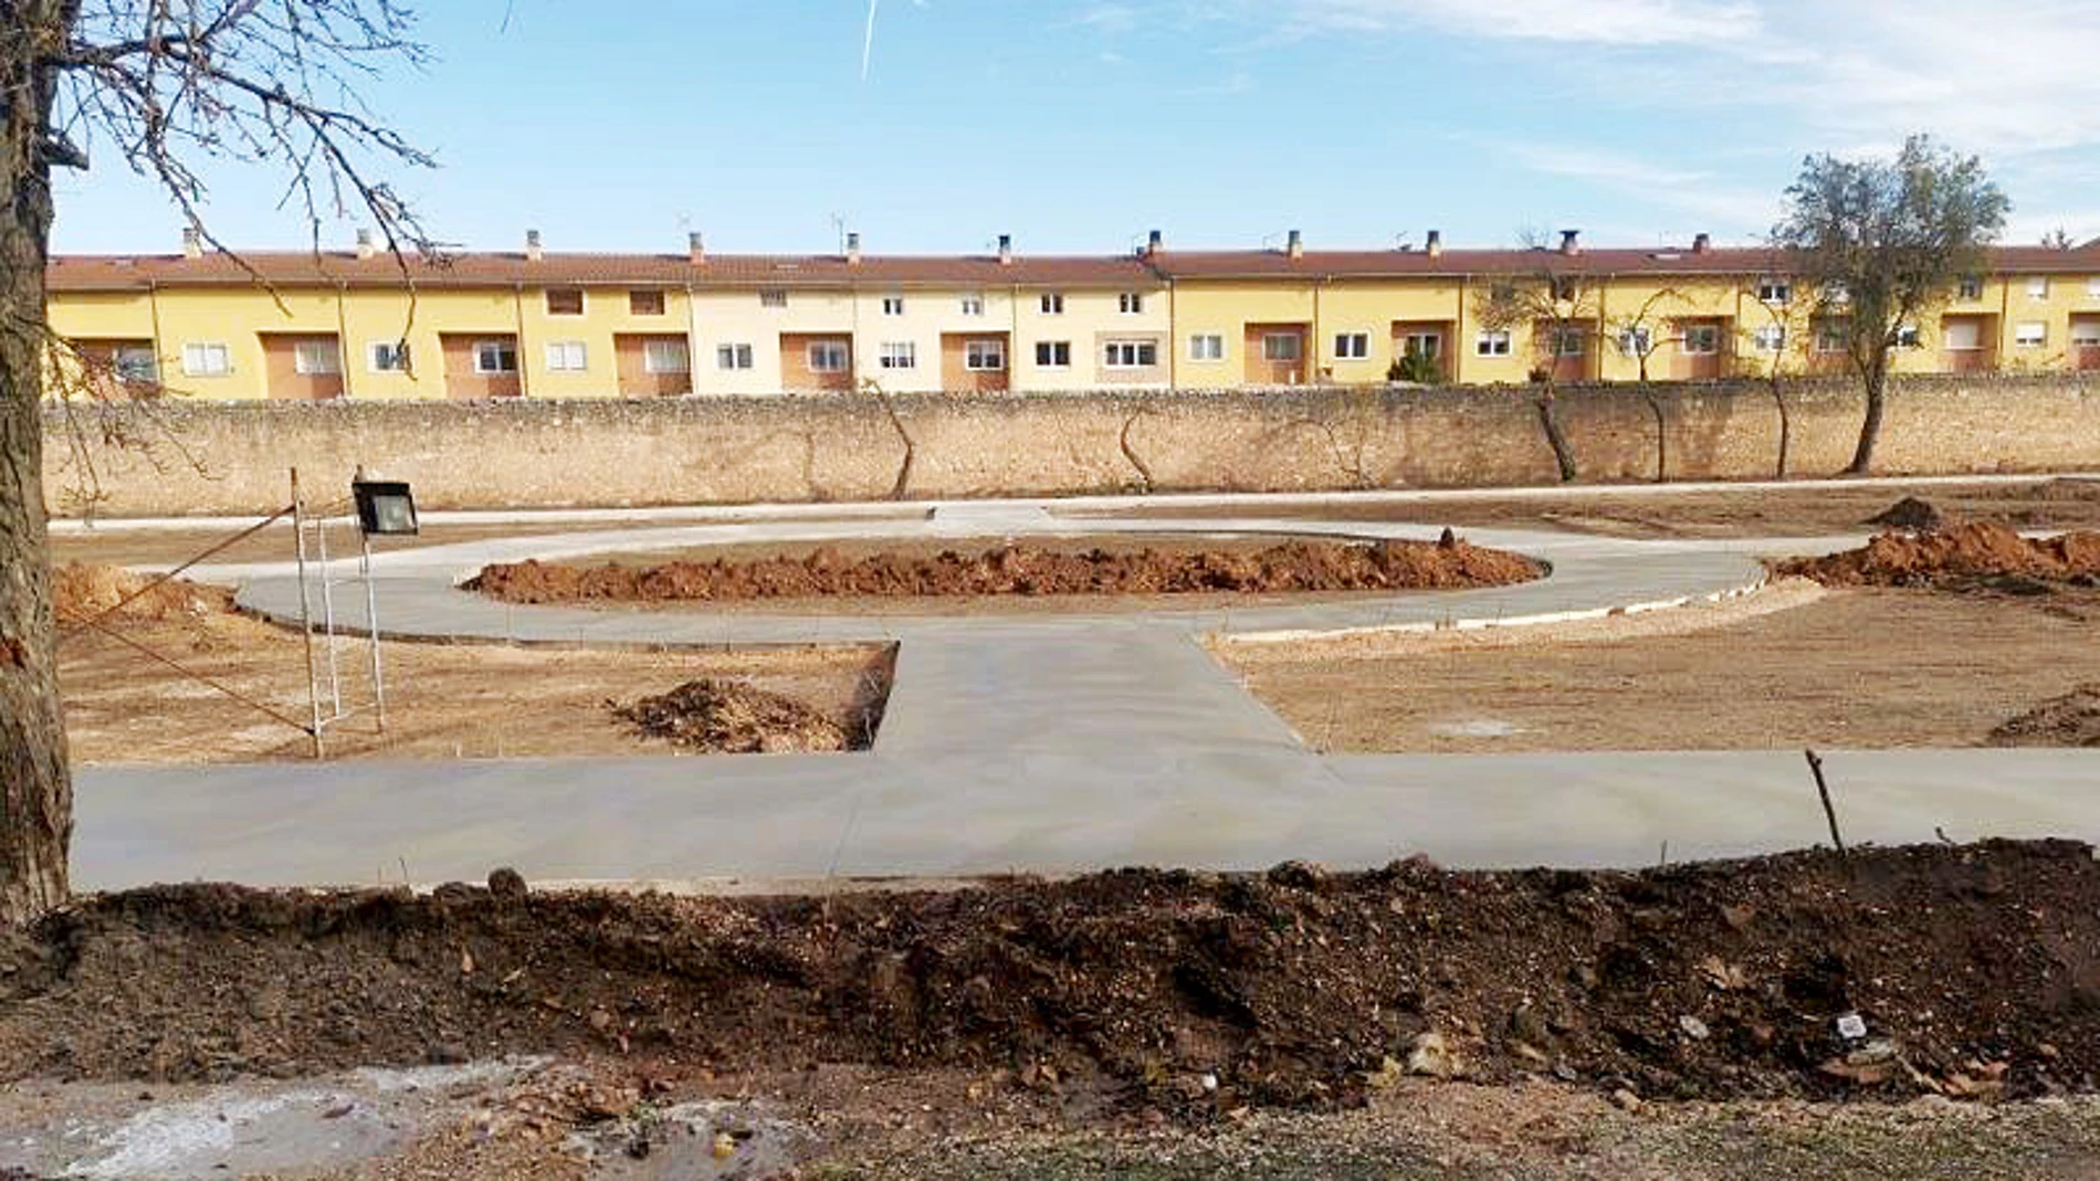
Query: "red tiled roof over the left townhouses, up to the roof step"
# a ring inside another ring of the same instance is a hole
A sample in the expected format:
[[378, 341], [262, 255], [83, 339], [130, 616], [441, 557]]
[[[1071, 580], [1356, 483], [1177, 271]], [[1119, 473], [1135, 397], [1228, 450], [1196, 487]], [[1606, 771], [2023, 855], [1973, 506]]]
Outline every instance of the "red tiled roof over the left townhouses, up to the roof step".
[[[244, 266], [246, 262], [246, 266]], [[254, 252], [204, 254], [65, 254], [44, 273], [52, 292], [145, 289], [149, 285], [250, 285], [256, 277], [286, 287], [349, 283], [353, 287], [399, 287], [401, 264], [388, 254]], [[842, 256], [758, 256], [710, 254], [691, 262], [682, 254], [546, 254], [538, 262], [523, 254], [456, 254], [441, 260], [410, 258], [407, 277], [420, 287], [542, 287], [578, 285], [674, 285], [695, 287], [796, 287], [796, 285], [1155, 285], [1159, 279], [1136, 258], [1117, 256], [863, 256], [859, 264]]]

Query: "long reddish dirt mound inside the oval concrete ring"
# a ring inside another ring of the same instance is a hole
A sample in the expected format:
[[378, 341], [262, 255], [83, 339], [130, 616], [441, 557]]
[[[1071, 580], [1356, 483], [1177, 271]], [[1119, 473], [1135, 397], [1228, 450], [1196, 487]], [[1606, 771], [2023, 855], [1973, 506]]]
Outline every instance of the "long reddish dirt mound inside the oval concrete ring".
[[670, 562], [664, 566], [485, 566], [466, 583], [504, 602], [670, 602], [830, 596], [1273, 594], [1508, 585], [1539, 577], [1529, 558], [1447, 537], [1436, 543], [1285, 541], [1258, 552], [1084, 550], [1008, 543], [976, 556], [872, 554]]

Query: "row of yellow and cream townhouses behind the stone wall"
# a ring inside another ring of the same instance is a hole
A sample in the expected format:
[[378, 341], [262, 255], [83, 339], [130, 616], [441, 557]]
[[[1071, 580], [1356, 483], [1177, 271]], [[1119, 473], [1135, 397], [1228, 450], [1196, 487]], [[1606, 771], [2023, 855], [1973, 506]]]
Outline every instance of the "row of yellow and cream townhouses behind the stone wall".
[[[1842, 302], [1716, 248], [1124, 256], [349, 252], [59, 256], [92, 369], [204, 399], [586, 399], [1701, 380], [1838, 371]], [[1527, 302], [1520, 289], [1556, 298]], [[1525, 310], [1497, 315], [1485, 292]], [[1833, 313], [1833, 308], [1838, 308]], [[2100, 241], [1999, 248], [1905, 325], [1896, 369], [2100, 369]], [[105, 369], [107, 367], [107, 369]]]

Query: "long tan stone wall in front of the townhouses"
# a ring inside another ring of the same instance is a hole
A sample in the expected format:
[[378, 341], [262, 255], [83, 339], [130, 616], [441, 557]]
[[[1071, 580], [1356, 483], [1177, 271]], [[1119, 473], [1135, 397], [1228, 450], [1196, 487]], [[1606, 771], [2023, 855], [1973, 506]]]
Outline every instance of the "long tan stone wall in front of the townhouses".
[[[1787, 474], [1846, 466], [1863, 399], [1791, 382]], [[895, 396], [911, 434], [907, 497], [1541, 485], [1556, 478], [1537, 392], [1304, 388], [1172, 394]], [[1583, 480], [1770, 478], [1781, 413], [1762, 382], [1560, 388]], [[872, 394], [514, 401], [170, 403], [151, 453], [65, 441], [46, 417], [52, 508], [80, 461], [113, 516], [265, 512], [286, 470], [340, 489], [355, 466], [416, 485], [426, 508], [880, 499], [903, 443]], [[153, 430], [149, 428], [151, 436]], [[172, 443], [170, 443], [172, 441]], [[204, 470], [187, 464], [195, 455]], [[1140, 474], [1149, 472], [1149, 480]], [[1903, 474], [2100, 468], [2100, 382], [1911, 378], [1890, 390], [1877, 468]]]

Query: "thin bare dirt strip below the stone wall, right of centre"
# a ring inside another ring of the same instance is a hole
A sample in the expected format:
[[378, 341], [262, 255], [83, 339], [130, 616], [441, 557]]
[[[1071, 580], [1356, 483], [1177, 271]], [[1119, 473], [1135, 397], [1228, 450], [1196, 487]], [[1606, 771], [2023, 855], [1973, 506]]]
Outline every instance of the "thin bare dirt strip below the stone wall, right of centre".
[[[1959, 520], [2014, 529], [2100, 527], [2100, 480], [2037, 478], [2018, 485], [1873, 485], [1701, 493], [1581, 493], [1541, 497], [1451, 497], [1434, 503], [1323, 503], [1134, 508], [1100, 516], [1144, 518], [1317, 518], [1453, 524], [1464, 529], [1560, 529], [1604, 537], [1829, 537], [1871, 533], [1867, 520], [1903, 495]], [[1075, 514], [1077, 516], [1077, 514]]]

